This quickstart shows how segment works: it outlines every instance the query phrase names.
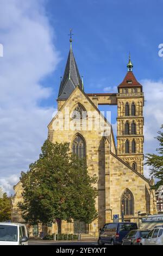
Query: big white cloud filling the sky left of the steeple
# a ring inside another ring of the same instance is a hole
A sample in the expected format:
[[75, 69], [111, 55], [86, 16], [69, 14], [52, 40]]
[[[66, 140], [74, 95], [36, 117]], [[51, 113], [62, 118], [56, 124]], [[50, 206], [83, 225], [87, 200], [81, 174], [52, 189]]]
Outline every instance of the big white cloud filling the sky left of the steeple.
[[21, 170], [36, 160], [47, 138], [54, 109], [40, 107], [51, 88], [41, 79], [55, 70], [60, 58], [43, 0], [1, 0], [0, 38], [0, 185], [12, 192]]

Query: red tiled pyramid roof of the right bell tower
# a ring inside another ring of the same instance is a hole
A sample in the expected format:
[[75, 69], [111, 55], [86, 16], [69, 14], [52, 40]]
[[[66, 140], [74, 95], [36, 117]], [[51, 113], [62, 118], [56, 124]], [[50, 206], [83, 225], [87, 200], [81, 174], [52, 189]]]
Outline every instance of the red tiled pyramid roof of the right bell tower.
[[142, 85], [139, 82], [137, 82], [132, 71], [127, 72], [123, 82], [118, 86], [118, 90], [119, 88], [125, 88], [125, 87], [141, 87], [141, 91], [142, 91]]

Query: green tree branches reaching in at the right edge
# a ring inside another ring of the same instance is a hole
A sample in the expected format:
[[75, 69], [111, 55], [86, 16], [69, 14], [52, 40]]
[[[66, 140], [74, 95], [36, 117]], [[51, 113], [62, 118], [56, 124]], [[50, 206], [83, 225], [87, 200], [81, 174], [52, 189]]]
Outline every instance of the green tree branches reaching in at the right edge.
[[[161, 129], [163, 125], [161, 126]], [[159, 131], [156, 139], [159, 141], [159, 148], [156, 149], [158, 154], [147, 154], [146, 156], [146, 164], [148, 166], [152, 166], [150, 169], [150, 174], [154, 176], [154, 178], [159, 179], [153, 188], [157, 189], [160, 185], [163, 185], [163, 132]]]

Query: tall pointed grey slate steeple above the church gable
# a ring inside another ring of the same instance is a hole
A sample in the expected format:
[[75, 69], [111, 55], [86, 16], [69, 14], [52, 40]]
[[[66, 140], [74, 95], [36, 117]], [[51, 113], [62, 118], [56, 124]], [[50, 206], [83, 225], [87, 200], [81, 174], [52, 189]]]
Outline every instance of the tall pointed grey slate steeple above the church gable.
[[70, 36], [70, 52], [68, 54], [64, 77], [61, 80], [58, 100], [67, 100], [77, 86], [83, 89], [82, 80], [72, 51], [72, 34]]

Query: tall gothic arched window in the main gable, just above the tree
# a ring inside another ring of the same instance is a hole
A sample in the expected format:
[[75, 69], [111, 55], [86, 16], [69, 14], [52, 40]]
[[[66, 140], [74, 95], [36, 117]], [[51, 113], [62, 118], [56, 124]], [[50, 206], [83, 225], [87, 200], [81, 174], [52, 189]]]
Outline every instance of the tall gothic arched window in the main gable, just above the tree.
[[77, 135], [74, 138], [72, 143], [72, 153], [81, 159], [86, 156], [85, 141], [82, 136]]

